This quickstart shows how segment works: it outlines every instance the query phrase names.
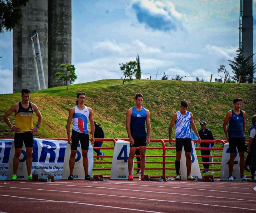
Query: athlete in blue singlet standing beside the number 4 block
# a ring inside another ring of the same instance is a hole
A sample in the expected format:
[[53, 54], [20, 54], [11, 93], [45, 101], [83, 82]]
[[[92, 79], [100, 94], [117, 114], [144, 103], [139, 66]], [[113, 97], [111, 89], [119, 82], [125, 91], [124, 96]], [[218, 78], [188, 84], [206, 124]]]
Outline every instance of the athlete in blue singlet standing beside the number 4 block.
[[[150, 142], [150, 113], [147, 109], [142, 107], [143, 95], [136, 93], [135, 106], [131, 107], [126, 112], [126, 131], [130, 140], [130, 153], [128, 159], [128, 180], [133, 180], [132, 168], [133, 158], [136, 151], [136, 147], [139, 147], [140, 151], [140, 169], [141, 180], [144, 180], [144, 171], [146, 163], [146, 148]], [[147, 132], [145, 129], [145, 123], [147, 124]]]

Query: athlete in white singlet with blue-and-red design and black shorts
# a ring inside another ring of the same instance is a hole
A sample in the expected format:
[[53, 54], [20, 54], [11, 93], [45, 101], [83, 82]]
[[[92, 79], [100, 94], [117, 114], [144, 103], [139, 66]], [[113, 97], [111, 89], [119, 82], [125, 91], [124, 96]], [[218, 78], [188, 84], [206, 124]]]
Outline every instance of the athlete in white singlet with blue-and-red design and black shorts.
[[[90, 107], [84, 105], [85, 93], [77, 93], [76, 106], [71, 108], [69, 111], [69, 117], [67, 121], [67, 135], [68, 144], [71, 147], [70, 159], [69, 159], [69, 170], [70, 175], [68, 180], [73, 180], [73, 170], [75, 166], [75, 156], [79, 141], [81, 143], [82, 156], [83, 156], [83, 166], [85, 173], [85, 180], [90, 180], [90, 175], [88, 174], [88, 149], [89, 149], [89, 129], [88, 120], [90, 121], [92, 139], [91, 143], [94, 144], [94, 122], [93, 122], [93, 110]], [[73, 119], [72, 135], [70, 136], [70, 124]]]

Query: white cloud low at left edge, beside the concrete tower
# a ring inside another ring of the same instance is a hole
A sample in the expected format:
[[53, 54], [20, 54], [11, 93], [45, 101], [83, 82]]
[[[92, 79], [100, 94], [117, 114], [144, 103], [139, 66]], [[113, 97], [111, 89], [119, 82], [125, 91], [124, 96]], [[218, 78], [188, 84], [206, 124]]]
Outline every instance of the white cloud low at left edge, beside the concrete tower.
[[12, 71], [0, 68], [0, 93], [12, 93]]

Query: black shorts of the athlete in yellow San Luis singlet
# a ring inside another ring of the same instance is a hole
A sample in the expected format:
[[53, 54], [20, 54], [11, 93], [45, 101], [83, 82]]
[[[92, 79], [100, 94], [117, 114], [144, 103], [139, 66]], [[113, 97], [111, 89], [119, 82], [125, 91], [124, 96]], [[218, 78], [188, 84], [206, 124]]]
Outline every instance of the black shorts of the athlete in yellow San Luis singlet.
[[33, 133], [31, 133], [31, 132], [15, 133], [15, 135], [14, 135], [15, 149], [20, 149], [23, 145], [23, 142], [24, 142], [26, 148], [34, 147]]

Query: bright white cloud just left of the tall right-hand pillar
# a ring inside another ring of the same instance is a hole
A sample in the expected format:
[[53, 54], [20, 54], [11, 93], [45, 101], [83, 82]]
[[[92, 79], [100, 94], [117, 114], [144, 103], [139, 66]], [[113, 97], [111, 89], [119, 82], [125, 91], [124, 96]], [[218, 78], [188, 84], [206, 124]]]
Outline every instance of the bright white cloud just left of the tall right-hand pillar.
[[204, 49], [208, 53], [213, 54], [217, 57], [224, 58], [227, 60], [232, 60], [237, 48], [236, 47], [224, 48], [224, 47], [217, 47], [214, 45], [207, 44]]

